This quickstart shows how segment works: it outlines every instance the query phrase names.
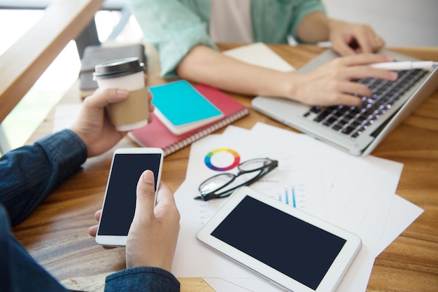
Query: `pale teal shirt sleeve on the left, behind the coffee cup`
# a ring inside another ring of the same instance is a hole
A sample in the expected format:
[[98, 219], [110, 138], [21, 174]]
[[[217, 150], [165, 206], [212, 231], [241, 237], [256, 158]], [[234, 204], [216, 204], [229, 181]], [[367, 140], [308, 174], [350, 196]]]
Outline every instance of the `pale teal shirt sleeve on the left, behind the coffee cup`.
[[129, 0], [128, 3], [145, 41], [160, 53], [164, 78], [177, 77], [176, 67], [194, 46], [217, 50], [208, 34], [208, 20], [202, 19], [206, 11], [209, 13], [209, 1], [192, 6], [178, 0]]

